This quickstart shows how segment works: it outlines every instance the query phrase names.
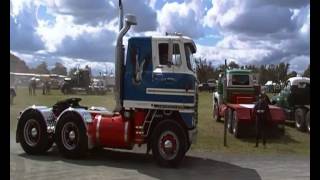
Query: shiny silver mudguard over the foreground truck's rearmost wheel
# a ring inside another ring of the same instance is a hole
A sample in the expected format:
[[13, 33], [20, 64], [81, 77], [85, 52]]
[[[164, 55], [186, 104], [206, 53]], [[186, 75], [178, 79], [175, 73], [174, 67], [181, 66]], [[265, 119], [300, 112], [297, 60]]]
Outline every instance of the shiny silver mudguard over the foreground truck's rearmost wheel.
[[18, 117], [17, 131], [16, 131], [16, 142], [20, 142], [20, 140], [18, 138], [19, 137], [18, 134], [20, 132], [20, 128], [19, 128], [20, 127], [20, 119], [29, 113], [40, 114], [42, 117], [41, 120], [44, 121], [47, 126], [47, 132], [52, 133], [54, 131], [56, 117], [52, 112], [52, 108], [48, 108], [47, 106], [33, 105], [33, 106], [26, 108], [22, 112], [20, 112], [20, 116]]

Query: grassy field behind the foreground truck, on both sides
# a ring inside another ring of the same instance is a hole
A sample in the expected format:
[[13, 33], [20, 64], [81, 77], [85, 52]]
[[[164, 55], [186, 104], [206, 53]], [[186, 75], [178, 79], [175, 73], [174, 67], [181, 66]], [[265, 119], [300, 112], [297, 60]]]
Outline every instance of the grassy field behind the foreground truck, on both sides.
[[[104, 106], [111, 109], [114, 105], [113, 95], [63, 95], [60, 91], [53, 90], [51, 95], [42, 95], [37, 91], [36, 96], [29, 96], [26, 88], [19, 88], [14, 105], [10, 106], [10, 130], [15, 135], [17, 115], [21, 110], [30, 105], [52, 106], [56, 101], [68, 97], [81, 97], [80, 104], [86, 106]], [[255, 153], [255, 154], [310, 154], [310, 136], [297, 131], [294, 127], [286, 126], [286, 133], [280, 139], [267, 139], [267, 147], [254, 147], [254, 138], [236, 139], [232, 134], [227, 135], [228, 147], [223, 146], [223, 123], [212, 119], [212, 94], [201, 92], [199, 97], [199, 122], [197, 143], [192, 145], [193, 150], [226, 153]]]

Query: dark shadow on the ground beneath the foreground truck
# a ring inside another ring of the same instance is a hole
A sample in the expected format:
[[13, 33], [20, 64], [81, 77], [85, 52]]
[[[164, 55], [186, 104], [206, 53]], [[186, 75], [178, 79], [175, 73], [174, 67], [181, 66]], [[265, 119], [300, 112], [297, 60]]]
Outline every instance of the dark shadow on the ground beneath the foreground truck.
[[230, 163], [205, 159], [200, 157], [187, 156], [179, 168], [162, 168], [156, 165], [152, 155], [145, 155], [133, 152], [121, 152], [109, 149], [102, 149], [90, 153], [81, 160], [70, 160], [61, 157], [55, 148], [52, 148], [46, 155], [32, 156], [25, 153], [19, 156], [37, 161], [64, 161], [66, 165], [76, 164], [81, 166], [104, 166], [136, 170], [140, 174], [156, 179], [239, 179], [239, 180], [261, 180], [261, 177], [254, 169], [243, 168]]

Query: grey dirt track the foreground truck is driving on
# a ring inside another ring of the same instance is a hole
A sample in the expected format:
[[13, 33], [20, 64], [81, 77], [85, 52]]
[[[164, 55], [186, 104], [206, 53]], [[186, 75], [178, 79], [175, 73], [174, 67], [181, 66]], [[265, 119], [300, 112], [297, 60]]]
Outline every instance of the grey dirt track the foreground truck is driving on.
[[46, 155], [27, 155], [11, 136], [10, 179], [310, 179], [306, 156], [191, 151], [179, 169], [167, 169], [158, 167], [143, 150], [102, 150], [84, 160], [68, 160], [55, 147]]

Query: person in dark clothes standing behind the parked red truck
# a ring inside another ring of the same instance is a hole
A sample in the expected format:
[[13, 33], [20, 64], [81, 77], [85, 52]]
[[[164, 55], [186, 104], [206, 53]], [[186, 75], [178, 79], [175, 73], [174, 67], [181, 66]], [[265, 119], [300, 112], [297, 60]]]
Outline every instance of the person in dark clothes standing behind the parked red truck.
[[259, 139], [262, 138], [263, 146], [266, 146], [267, 122], [270, 120], [270, 109], [264, 93], [259, 94], [259, 100], [253, 108], [253, 116], [256, 121], [256, 146], [259, 146]]

